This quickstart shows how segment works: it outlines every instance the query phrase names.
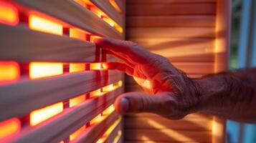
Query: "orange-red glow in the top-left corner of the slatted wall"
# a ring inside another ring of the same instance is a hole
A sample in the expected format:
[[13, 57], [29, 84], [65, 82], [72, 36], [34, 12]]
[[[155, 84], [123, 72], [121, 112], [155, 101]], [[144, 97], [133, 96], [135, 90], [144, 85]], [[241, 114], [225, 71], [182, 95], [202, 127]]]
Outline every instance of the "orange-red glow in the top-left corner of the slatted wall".
[[4, 1], [0, 1], [0, 23], [12, 26], [18, 24], [19, 14], [16, 7]]

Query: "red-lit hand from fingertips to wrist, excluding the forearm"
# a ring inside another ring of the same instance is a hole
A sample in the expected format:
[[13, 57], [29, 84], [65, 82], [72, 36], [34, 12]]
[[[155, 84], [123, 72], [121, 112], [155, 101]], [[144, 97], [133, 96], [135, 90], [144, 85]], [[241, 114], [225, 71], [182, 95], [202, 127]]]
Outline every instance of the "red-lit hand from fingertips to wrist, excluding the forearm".
[[115, 100], [117, 112], [153, 112], [169, 119], [181, 119], [196, 111], [199, 106], [196, 82], [176, 69], [168, 59], [131, 41], [95, 39], [95, 43], [123, 61], [108, 63], [108, 69], [125, 71], [147, 93], [121, 94]]

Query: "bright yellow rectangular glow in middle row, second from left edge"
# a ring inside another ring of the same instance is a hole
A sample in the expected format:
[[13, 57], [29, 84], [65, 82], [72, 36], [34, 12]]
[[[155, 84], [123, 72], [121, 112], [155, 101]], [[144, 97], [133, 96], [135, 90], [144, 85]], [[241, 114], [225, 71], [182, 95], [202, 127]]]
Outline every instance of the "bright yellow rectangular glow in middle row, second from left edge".
[[62, 63], [31, 62], [29, 63], [29, 77], [37, 79], [63, 74]]

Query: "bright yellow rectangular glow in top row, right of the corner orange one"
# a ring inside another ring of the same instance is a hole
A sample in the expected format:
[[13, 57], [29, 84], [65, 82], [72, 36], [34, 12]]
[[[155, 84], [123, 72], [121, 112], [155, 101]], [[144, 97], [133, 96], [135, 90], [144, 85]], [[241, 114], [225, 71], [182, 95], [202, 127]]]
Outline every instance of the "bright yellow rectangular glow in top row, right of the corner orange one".
[[43, 31], [50, 34], [62, 35], [62, 24], [55, 21], [44, 19], [40, 16], [29, 15], [29, 28], [37, 31]]

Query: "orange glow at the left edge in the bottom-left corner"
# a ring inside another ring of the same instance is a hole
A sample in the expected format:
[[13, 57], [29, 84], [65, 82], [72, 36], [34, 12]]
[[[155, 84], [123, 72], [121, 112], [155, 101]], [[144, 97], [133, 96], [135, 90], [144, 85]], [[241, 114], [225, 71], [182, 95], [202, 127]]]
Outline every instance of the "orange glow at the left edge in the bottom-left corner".
[[7, 119], [0, 122], [0, 139], [8, 137], [11, 134], [18, 133], [21, 130], [21, 123], [17, 118]]

